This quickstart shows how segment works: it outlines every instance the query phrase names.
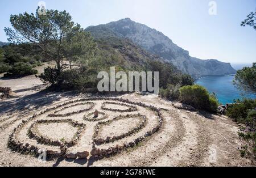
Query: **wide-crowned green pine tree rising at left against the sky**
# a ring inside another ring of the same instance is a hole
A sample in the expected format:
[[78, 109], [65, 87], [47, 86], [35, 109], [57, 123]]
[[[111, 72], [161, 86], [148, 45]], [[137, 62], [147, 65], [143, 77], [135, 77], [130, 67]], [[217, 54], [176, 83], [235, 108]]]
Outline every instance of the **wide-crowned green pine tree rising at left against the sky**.
[[71, 21], [66, 11], [46, 10], [45, 15], [11, 15], [12, 28], [5, 28], [9, 41], [37, 46], [38, 52], [48, 60], [54, 60], [61, 70], [61, 61], [68, 60], [84, 65], [94, 56], [96, 43], [88, 32]]

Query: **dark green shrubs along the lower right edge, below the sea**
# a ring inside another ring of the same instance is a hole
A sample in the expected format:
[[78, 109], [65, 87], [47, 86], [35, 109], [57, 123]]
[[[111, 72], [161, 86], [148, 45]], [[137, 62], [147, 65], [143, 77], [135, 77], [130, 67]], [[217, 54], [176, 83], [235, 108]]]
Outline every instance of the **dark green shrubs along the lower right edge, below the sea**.
[[240, 150], [241, 156], [256, 160], [256, 99], [236, 100], [236, 103], [228, 108], [226, 116], [246, 125], [238, 132], [240, 138], [245, 141]]

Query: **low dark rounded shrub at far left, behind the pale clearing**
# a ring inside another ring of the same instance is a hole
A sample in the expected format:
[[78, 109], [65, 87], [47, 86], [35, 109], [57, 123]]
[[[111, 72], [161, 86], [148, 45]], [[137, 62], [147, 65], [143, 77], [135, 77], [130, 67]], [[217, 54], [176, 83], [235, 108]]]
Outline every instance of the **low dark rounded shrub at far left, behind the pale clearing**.
[[37, 74], [38, 70], [32, 69], [29, 63], [17, 62], [7, 71], [5, 77], [23, 77]]

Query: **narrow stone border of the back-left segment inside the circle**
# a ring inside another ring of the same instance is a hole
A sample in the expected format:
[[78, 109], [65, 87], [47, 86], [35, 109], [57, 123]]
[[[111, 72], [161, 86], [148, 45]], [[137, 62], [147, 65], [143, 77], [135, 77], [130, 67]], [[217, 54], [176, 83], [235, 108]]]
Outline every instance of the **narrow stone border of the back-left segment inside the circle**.
[[[90, 104], [90, 107], [89, 108], [86, 108], [86, 109], [81, 109], [79, 111], [75, 111], [75, 112], [70, 112], [70, 113], [66, 113], [66, 114], [56, 114], [58, 112], [61, 112], [63, 111], [64, 109], [67, 109], [67, 108], [70, 108], [70, 107], [75, 107], [77, 105], [84, 105], [84, 104]], [[69, 105], [67, 107], [64, 107], [64, 108], [61, 108], [55, 112], [53, 112], [53, 114], [49, 114], [48, 117], [67, 117], [67, 116], [71, 116], [71, 115], [75, 115], [75, 114], [79, 114], [79, 113], [82, 113], [82, 112], [85, 112], [85, 111], [89, 111], [90, 109], [92, 109], [96, 104], [93, 103], [93, 102], [85, 102], [85, 103], [77, 103], [77, 104], [73, 104], [73, 105]]]

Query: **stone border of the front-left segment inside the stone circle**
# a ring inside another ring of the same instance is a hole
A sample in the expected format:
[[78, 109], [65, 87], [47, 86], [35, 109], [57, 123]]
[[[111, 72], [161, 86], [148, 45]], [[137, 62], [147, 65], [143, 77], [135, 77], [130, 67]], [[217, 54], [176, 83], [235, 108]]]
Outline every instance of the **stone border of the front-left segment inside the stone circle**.
[[[52, 140], [50, 138], [44, 137], [43, 135], [41, 135], [40, 133], [35, 131], [35, 127], [38, 126], [38, 124], [48, 124], [48, 123], [69, 123], [71, 124], [73, 127], [78, 128], [78, 131], [76, 132], [76, 134], [73, 136], [72, 140], [67, 142], [67, 141], [60, 141], [60, 140]], [[77, 144], [77, 142], [79, 141], [82, 132], [84, 132], [85, 130], [85, 124], [83, 123], [79, 123], [77, 121], [73, 121], [72, 119], [65, 119], [65, 120], [38, 120], [36, 122], [34, 122], [30, 128], [28, 129], [28, 136], [32, 139], [35, 139], [36, 141], [38, 141], [38, 143], [42, 143], [45, 145], [52, 145], [52, 146], [68, 146], [68, 147], [72, 147], [74, 145]]]

